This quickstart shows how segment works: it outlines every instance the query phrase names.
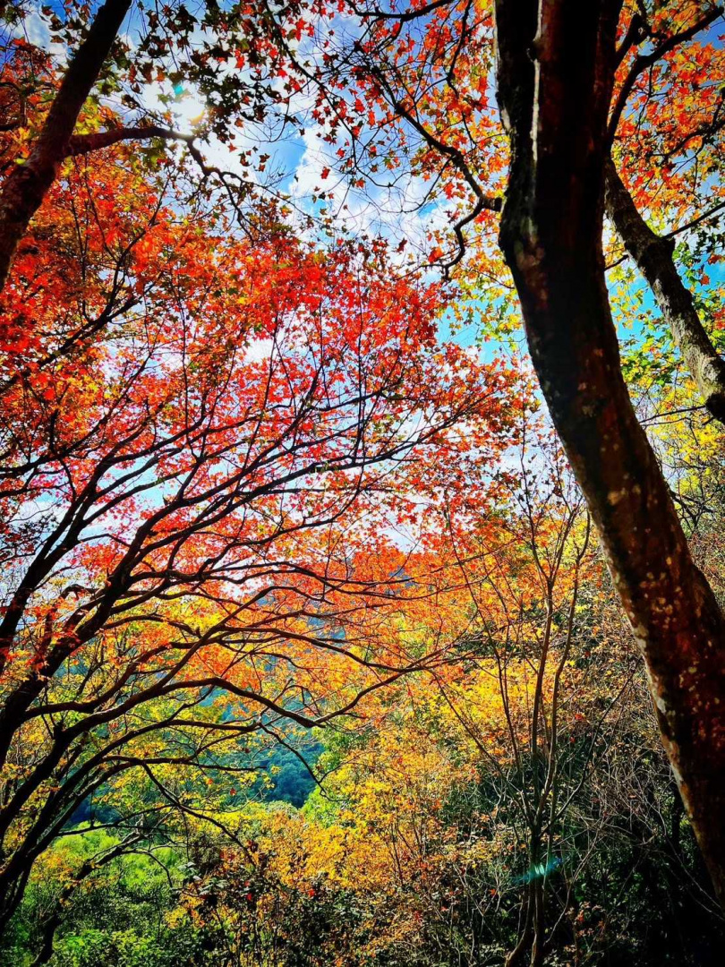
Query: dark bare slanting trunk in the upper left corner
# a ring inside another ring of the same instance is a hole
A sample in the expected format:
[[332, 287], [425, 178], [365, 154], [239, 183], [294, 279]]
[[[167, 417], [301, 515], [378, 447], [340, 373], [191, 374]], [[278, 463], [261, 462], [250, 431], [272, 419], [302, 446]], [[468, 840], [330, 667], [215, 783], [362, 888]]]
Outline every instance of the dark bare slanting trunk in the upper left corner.
[[103, 61], [131, 7], [131, 0], [106, 0], [71, 61], [43, 129], [24, 164], [18, 164], [0, 192], [0, 291], [10, 272], [17, 244], [53, 184], [80, 109], [98, 79]]

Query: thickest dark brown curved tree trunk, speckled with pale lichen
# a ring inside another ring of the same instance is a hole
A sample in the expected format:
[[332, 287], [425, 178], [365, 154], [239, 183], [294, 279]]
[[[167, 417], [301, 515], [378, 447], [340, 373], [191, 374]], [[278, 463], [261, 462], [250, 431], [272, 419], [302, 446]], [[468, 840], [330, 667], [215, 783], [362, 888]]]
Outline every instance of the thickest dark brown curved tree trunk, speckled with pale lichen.
[[620, 0], [497, 0], [511, 143], [501, 246], [541, 389], [644, 656], [682, 801], [725, 903], [725, 620], [623, 381], [601, 244]]

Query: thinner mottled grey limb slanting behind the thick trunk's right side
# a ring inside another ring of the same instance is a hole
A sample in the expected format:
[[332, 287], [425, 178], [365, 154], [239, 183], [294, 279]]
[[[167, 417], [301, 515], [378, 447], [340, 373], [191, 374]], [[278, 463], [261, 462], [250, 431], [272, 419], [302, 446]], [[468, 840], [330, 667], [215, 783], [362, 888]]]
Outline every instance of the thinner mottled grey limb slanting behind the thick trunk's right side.
[[649, 282], [705, 405], [713, 417], [725, 423], [725, 360], [712, 345], [692, 294], [680, 278], [672, 242], [653, 232], [642, 218], [611, 159], [604, 162], [604, 184], [608, 218]]

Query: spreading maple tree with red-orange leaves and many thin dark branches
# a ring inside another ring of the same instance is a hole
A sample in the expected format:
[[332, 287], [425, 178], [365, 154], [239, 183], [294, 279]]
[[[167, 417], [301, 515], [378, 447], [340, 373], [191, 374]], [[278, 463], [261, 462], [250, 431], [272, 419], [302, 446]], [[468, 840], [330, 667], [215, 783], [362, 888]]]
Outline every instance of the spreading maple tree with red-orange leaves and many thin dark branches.
[[73, 161], [3, 294], [6, 920], [128, 773], [197, 813], [185, 769], [244, 777], [246, 735], [445, 661], [445, 630], [390, 631], [448, 579], [424, 503], [465, 474], [482, 507], [512, 437], [515, 374], [437, 346], [440, 286], [379, 246], [249, 245], [178, 210], [184, 177], [123, 144]]

